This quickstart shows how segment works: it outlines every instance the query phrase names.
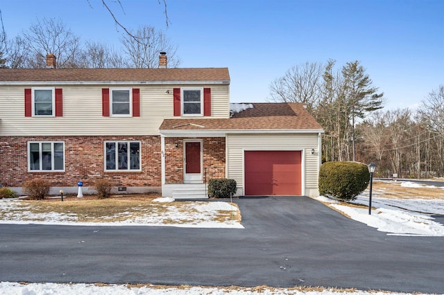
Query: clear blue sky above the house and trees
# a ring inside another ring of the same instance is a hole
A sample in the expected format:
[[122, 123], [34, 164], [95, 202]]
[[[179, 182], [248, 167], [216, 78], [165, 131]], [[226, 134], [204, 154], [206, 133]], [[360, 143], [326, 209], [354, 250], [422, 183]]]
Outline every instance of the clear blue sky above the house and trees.
[[[359, 60], [386, 109], [413, 107], [444, 84], [443, 0], [108, 0], [128, 28], [155, 26], [181, 67], [228, 67], [232, 102], [264, 102], [268, 86], [305, 62]], [[121, 46], [100, 0], [0, 0], [8, 37], [37, 17], [60, 17], [84, 41]]]

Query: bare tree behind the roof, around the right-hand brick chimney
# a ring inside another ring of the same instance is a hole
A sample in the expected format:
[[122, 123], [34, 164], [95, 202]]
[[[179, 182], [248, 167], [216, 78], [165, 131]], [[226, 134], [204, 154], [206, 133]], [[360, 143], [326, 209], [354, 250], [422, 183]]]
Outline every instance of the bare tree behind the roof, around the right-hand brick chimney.
[[137, 40], [123, 35], [121, 43], [128, 56], [128, 65], [137, 69], [153, 69], [159, 67], [159, 53], [168, 55], [168, 67], [176, 68], [180, 59], [176, 55], [177, 46], [173, 46], [162, 30], [152, 26], [141, 26], [134, 33]]

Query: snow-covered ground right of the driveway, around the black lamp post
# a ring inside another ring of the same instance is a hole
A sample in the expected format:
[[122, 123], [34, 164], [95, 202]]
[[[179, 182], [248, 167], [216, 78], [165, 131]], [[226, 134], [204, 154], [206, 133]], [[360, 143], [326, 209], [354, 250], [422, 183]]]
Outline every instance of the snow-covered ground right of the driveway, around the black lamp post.
[[[390, 184], [391, 181], [386, 181]], [[435, 222], [432, 215], [444, 215], [444, 189], [435, 186], [416, 184], [411, 181], [398, 181], [391, 184], [402, 188], [435, 189], [441, 193], [441, 197], [416, 197], [402, 198], [402, 195], [386, 193], [386, 189], [373, 190], [372, 213], [368, 215], [368, 190], [359, 195], [353, 202], [364, 206], [350, 206], [326, 197], [318, 197], [321, 202], [327, 203], [332, 208], [341, 211], [352, 220], [363, 222], [375, 227], [378, 231], [384, 231], [388, 235], [419, 235], [419, 236], [444, 236], [444, 225]]]

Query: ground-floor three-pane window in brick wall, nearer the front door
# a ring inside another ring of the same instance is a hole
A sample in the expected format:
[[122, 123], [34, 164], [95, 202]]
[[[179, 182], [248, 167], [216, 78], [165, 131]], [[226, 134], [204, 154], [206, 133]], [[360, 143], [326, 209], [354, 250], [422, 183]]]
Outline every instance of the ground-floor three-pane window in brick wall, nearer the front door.
[[105, 141], [105, 171], [140, 171], [140, 141]]

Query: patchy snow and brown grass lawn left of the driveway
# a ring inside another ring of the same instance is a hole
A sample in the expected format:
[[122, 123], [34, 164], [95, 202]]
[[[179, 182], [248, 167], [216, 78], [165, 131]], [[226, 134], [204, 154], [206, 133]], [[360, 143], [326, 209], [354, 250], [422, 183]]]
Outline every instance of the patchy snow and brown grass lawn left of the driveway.
[[[22, 199], [0, 199], [0, 223], [3, 224], [57, 224], [73, 226], [179, 226], [198, 228], [244, 229], [237, 220], [239, 208], [228, 202], [174, 202], [172, 198], [153, 199], [160, 203], [153, 209], [133, 208], [138, 211], [121, 212], [101, 222], [79, 222], [78, 215], [70, 212], [33, 212], [33, 202]], [[39, 206], [42, 206], [41, 204]], [[142, 213], [141, 213], [142, 212]], [[223, 217], [220, 217], [223, 215]], [[103, 218], [102, 218], [103, 219]]]

